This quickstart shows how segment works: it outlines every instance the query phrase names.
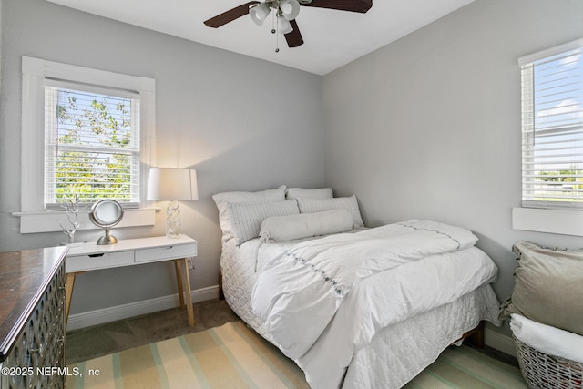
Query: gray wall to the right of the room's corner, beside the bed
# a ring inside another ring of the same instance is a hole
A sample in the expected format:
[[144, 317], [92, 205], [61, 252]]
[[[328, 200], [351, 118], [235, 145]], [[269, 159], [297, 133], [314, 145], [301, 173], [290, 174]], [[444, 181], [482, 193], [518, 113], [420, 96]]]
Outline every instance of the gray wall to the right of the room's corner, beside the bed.
[[512, 291], [521, 199], [517, 58], [583, 36], [581, 0], [477, 0], [324, 77], [326, 184], [368, 225], [441, 220], [476, 232]]

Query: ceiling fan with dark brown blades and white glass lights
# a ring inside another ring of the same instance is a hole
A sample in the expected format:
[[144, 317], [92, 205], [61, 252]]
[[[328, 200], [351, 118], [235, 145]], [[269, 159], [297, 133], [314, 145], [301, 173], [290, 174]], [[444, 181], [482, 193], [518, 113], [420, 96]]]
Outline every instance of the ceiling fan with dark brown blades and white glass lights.
[[[204, 24], [218, 28], [232, 22], [241, 16], [249, 14], [255, 24], [261, 26], [268, 15], [273, 12], [274, 22], [271, 33], [280, 33], [290, 47], [303, 44], [302, 34], [295, 21], [300, 13], [300, 5], [319, 8], [337, 9], [339, 11], [360, 12], [365, 14], [373, 6], [373, 0], [265, 0], [263, 2], [250, 1], [236, 6], [220, 15], [211, 17]], [[276, 48], [276, 52], [279, 48]]]

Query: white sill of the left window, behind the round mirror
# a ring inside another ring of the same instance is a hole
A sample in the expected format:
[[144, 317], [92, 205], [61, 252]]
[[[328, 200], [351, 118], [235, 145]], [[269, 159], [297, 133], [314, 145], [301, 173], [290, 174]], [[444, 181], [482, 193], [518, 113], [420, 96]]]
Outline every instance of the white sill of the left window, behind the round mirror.
[[[153, 226], [156, 221], [157, 208], [141, 208], [124, 210], [124, 217], [116, 226], [119, 227], [137, 227]], [[79, 210], [79, 222], [81, 226], [77, 230], [96, 230], [99, 229], [89, 220], [88, 210]], [[36, 232], [54, 232], [61, 231], [62, 223], [65, 227], [70, 227], [71, 223], [66, 219], [64, 211], [46, 211], [46, 212], [15, 212], [13, 216], [20, 218], [20, 233]]]

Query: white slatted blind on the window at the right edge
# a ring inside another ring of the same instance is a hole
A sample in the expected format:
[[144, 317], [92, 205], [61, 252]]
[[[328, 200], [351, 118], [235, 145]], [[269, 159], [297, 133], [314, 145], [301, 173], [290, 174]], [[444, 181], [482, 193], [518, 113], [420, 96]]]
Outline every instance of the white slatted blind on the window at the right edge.
[[519, 59], [524, 207], [583, 209], [583, 39]]

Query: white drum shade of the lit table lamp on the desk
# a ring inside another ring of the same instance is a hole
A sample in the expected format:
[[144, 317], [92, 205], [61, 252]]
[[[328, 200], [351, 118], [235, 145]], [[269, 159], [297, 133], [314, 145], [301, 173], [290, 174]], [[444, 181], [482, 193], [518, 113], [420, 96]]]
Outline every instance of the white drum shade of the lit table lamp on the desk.
[[197, 171], [150, 168], [148, 200], [199, 200]]

